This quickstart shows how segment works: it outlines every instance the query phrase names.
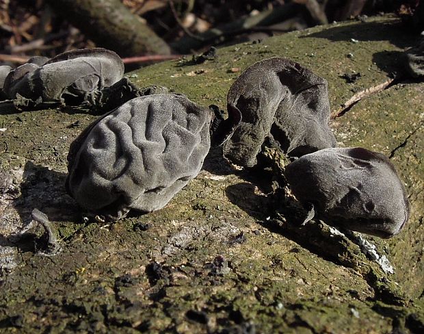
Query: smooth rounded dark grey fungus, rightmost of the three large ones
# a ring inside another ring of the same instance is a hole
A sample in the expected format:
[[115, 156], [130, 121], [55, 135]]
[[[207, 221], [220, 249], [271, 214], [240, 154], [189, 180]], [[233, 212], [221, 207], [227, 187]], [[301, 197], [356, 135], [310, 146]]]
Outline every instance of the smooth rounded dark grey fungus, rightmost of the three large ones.
[[399, 233], [409, 217], [405, 188], [390, 160], [360, 147], [323, 149], [289, 164], [293, 194], [330, 224], [380, 237]]

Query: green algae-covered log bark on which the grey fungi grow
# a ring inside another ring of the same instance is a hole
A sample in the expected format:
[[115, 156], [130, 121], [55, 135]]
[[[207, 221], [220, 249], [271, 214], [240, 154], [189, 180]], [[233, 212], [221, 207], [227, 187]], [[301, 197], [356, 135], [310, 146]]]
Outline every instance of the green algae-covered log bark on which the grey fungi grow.
[[[224, 109], [226, 92], [243, 69], [284, 56], [326, 78], [337, 109], [398, 70], [399, 53], [412, 39], [397, 19], [370, 18], [225, 47], [203, 64], [187, 58], [128, 77], [139, 86], [167, 86], [200, 105]], [[346, 73], [360, 77], [348, 84]], [[392, 240], [369, 238], [393, 264], [394, 275], [323, 222], [300, 226], [299, 212], [285, 205], [273, 182], [284, 159], [272, 170], [239, 170], [213, 149], [200, 175], [163, 209], [114, 224], [86, 222], [64, 189], [66, 155], [96, 116], [79, 108], [1, 112], [6, 130], [0, 132], [0, 162], [6, 176], [5, 185], [0, 183], [0, 332], [419, 329], [422, 89], [421, 84], [393, 86], [332, 123], [340, 144], [391, 155], [407, 184], [410, 224]], [[58, 255], [42, 255], [43, 236], [33, 230], [19, 236], [31, 224], [34, 207], [57, 231]]]

